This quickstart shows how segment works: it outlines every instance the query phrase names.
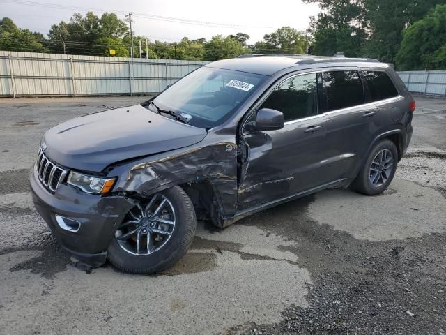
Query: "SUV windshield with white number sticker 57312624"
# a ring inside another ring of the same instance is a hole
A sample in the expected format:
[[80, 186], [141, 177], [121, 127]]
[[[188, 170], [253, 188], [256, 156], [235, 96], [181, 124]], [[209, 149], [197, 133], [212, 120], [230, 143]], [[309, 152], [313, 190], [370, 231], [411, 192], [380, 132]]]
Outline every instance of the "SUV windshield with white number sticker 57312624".
[[265, 75], [202, 67], [162, 92], [153, 103], [187, 119], [192, 126], [213, 128], [229, 119], [265, 79]]

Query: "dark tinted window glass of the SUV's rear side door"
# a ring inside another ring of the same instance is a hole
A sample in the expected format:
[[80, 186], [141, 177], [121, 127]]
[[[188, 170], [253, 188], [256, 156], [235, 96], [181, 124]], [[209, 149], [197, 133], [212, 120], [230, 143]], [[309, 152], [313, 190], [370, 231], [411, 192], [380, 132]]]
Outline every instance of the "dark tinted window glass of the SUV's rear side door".
[[364, 103], [364, 89], [356, 71], [324, 72], [322, 78], [325, 93], [324, 112]]

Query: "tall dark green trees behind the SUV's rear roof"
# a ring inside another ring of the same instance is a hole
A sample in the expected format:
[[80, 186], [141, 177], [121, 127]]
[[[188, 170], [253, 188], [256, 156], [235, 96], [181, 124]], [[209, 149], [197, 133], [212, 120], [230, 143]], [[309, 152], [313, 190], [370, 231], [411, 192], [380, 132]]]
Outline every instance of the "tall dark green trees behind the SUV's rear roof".
[[404, 29], [445, 0], [303, 0], [323, 10], [311, 23], [316, 54], [344, 51], [392, 62]]

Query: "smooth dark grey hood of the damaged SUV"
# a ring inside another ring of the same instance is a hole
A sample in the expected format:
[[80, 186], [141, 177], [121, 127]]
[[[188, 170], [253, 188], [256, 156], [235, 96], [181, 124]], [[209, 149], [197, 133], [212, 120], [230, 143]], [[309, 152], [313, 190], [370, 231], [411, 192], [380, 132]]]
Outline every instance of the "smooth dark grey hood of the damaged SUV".
[[45, 133], [45, 154], [67, 168], [100, 172], [118, 161], [190, 146], [206, 134], [205, 129], [134, 105], [54, 126]]

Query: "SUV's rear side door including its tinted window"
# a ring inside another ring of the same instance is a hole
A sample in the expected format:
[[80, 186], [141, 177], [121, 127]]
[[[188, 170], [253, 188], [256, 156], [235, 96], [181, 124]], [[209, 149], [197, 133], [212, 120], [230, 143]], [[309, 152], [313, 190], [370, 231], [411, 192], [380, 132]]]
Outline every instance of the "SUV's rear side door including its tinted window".
[[378, 110], [373, 103], [365, 104], [359, 68], [326, 70], [322, 78], [328, 155], [325, 173], [332, 180], [351, 178], [371, 143], [371, 120]]

